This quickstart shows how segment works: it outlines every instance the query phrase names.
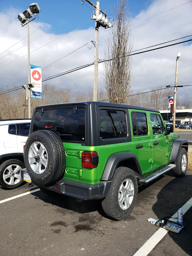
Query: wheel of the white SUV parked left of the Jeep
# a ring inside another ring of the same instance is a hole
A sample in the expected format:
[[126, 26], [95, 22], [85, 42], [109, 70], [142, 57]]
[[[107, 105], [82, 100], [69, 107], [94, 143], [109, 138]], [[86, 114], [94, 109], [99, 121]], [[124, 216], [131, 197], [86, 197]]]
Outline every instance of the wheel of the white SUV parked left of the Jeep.
[[0, 165], [0, 187], [12, 189], [18, 187], [23, 179], [20, 170], [24, 168], [24, 163], [18, 159], [9, 159]]

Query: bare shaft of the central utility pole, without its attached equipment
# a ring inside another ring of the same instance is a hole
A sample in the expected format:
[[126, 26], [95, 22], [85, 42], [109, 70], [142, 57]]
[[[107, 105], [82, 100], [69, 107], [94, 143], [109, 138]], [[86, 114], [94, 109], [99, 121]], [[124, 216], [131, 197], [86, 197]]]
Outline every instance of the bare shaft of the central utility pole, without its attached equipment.
[[[99, 1], [96, 2], [96, 17], [99, 14]], [[98, 81], [98, 27], [99, 23], [95, 20], [95, 42], [94, 42], [94, 85], [93, 101], [97, 101], [97, 81]]]

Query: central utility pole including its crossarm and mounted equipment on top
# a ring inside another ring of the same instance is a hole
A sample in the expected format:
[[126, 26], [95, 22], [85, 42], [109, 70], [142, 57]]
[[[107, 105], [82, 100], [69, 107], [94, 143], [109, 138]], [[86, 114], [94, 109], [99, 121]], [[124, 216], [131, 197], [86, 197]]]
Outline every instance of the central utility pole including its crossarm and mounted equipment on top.
[[[91, 19], [95, 20], [95, 42], [94, 42], [94, 85], [93, 85], [93, 101], [97, 101], [97, 83], [98, 83], [98, 28], [103, 26], [108, 28], [112, 26], [111, 22], [108, 22], [106, 17], [106, 12], [99, 9], [99, 0], [96, 2], [96, 5], [89, 0], [85, 0], [90, 3], [94, 8], [96, 8], [95, 13], [92, 12]], [[84, 3], [84, 0], [81, 0], [81, 3]], [[99, 11], [104, 14], [99, 14]]]

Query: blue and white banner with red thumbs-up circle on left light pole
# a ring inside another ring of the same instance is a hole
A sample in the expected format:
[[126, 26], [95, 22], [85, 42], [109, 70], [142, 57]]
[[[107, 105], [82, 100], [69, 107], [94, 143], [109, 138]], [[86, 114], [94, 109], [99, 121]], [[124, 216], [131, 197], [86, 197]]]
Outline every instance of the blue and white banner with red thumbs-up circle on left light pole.
[[34, 87], [31, 88], [31, 97], [34, 98], [41, 98], [42, 93], [42, 78], [41, 78], [41, 67], [40, 66], [35, 66], [35, 65], [30, 65], [30, 80], [31, 83], [33, 83]]

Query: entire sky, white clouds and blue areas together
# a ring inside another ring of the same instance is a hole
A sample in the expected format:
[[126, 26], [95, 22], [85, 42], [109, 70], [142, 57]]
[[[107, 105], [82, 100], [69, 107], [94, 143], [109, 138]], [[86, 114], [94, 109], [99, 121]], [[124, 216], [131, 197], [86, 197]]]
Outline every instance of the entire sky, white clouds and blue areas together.
[[[30, 3], [32, 1], [1, 1], [0, 86], [19, 86], [27, 82], [27, 29], [21, 27], [17, 16]], [[90, 19], [93, 7], [86, 1], [82, 5], [80, 0], [38, 0], [37, 3], [38, 19], [30, 23], [30, 63], [43, 68], [42, 78], [93, 62], [94, 21]], [[116, 3], [117, 0], [100, 0], [100, 8], [106, 10], [109, 19]], [[128, 8], [133, 50], [192, 34], [190, 0], [129, 0]], [[99, 59], [104, 58], [110, 29], [99, 28]], [[182, 39], [174, 42], [179, 41]], [[192, 84], [192, 45], [188, 42], [134, 55], [131, 89], [136, 92], [174, 84], [177, 51], [181, 52], [178, 82]], [[93, 66], [48, 80], [48, 83], [72, 91], [91, 88]], [[102, 64], [98, 66], [98, 88], [104, 88]], [[185, 95], [192, 100], [192, 86], [178, 88], [178, 96], [182, 99]]]

